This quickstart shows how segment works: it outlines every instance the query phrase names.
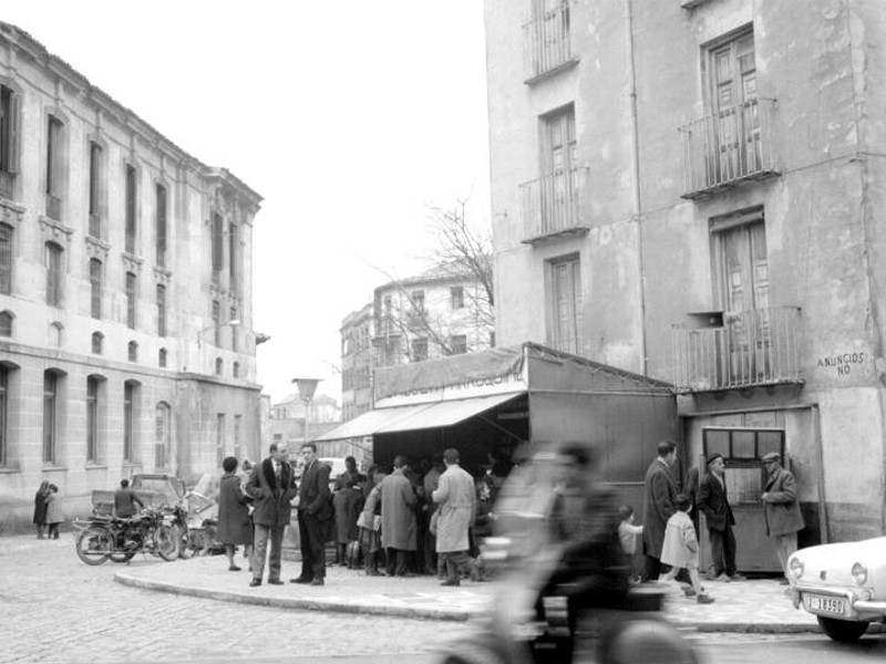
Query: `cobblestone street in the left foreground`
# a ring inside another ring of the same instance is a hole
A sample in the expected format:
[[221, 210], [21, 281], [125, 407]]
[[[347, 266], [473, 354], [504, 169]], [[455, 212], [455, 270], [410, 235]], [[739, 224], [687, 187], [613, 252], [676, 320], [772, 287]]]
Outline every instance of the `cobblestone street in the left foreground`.
[[[128, 569], [163, 564], [171, 563], [137, 556]], [[114, 582], [124, 567], [83, 564], [71, 533], [58, 541], [0, 539], [0, 663], [405, 655], [427, 653], [466, 630], [463, 623], [280, 610], [141, 590]]]

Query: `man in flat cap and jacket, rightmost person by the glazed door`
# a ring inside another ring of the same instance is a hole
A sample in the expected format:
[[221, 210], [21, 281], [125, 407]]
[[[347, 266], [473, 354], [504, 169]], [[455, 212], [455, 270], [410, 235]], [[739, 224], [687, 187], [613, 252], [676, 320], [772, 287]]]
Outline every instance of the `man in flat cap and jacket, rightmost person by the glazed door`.
[[763, 487], [763, 508], [766, 517], [766, 535], [775, 538], [775, 550], [787, 583], [787, 559], [796, 551], [796, 533], [805, 522], [796, 500], [796, 480], [790, 470], [781, 465], [781, 455], [770, 452], [763, 457], [767, 478]]

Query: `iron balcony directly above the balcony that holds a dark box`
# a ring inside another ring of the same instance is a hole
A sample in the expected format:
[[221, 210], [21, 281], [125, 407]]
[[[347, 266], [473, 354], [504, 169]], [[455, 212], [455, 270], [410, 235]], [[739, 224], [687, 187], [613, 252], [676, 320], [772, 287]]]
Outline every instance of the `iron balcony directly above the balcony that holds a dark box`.
[[775, 100], [754, 98], [680, 127], [683, 198], [777, 175], [772, 141]]

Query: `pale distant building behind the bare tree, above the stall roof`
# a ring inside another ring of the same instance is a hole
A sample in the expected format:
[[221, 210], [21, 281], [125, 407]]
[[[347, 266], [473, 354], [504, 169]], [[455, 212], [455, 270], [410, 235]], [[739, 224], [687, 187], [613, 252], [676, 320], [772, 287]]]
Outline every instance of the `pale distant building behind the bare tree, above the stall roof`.
[[495, 321], [476, 277], [454, 264], [375, 289], [373, 366], [422, 362], [495, 345]]

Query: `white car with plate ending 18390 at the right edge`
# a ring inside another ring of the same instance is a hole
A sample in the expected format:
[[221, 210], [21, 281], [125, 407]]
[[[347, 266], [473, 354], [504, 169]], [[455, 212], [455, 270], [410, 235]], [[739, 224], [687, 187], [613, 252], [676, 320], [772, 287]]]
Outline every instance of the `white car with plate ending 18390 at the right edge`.
[[787, 559], [787, 581], [795, 609], [834, 641], [856, 641], [886, 622], [886, 537], [801, 549]]

